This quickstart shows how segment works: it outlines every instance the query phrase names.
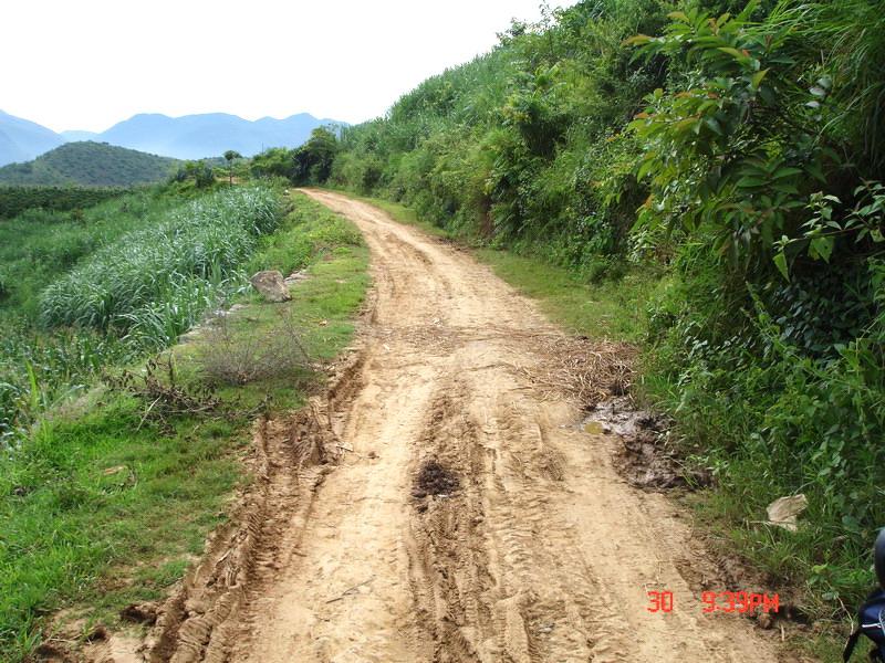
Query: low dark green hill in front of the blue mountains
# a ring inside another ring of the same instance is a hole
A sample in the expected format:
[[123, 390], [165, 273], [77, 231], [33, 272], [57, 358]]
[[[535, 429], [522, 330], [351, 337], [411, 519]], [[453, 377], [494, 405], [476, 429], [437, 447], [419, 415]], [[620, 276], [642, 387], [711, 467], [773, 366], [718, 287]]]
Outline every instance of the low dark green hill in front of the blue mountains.
[[33, 161], [0, 168], [0, 185], [128, 187], [165, 179], [176, 159], [105, 143], [69, 143]]

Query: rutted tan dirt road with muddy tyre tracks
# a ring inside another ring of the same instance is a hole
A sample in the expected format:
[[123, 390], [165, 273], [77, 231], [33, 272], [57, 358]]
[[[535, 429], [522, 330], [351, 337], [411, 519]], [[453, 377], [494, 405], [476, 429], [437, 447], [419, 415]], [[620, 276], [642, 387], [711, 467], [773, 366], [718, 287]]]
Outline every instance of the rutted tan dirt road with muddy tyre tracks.
[[[219, 533], [144, 657], [777, 660], [750, 620], [701, 614], [678, 514], [532, 380], [568, 339], [531, 302], [368, 204], [308, 193], [364, 232], [371, 313], [329, 400], [259, 425], [248, 526]], [[650, 590], [673, 612], [649, 612]]]

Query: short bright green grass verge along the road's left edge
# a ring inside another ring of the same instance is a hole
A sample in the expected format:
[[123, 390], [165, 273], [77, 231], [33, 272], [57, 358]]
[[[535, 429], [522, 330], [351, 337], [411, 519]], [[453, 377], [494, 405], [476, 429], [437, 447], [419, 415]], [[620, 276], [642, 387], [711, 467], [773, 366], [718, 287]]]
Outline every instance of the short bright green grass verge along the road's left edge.
[[[231, 338], [260, 340], [281, 324], [296, 325], [311, 360], [331, 359], [352, 338], [368, 253], [343, 218], [298, 193], [291, 203], [250, 266], [306, 269], [308, 278], [282, 305], [243, 296], [246, 307], [230, 316]], [[165, 354], [194, 387], [206, 380], [198, 346]], [[145, 417], [149, 403], [105, 389], [87, 412], [54, 414], [9, 450], [0, 466], [0, 660], [32, 654], [62, 622], [51, 619], [59, 611], [83, 620], [85, 636], [96, 623], [116, 625], [125, 606], [162, 598], [250, 481], [246, 410], [299, 407], [320, 381], [322, 372], [308, 365], [222, 386], [220, 412], [165, 421]]]

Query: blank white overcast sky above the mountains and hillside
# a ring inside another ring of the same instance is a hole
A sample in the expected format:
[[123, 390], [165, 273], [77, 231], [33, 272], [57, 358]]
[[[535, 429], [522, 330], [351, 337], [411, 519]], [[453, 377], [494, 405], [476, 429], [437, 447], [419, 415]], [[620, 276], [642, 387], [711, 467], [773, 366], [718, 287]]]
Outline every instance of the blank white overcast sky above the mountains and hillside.
[[[541, 0], [3, 0], [0, 109], [101, 131], [136, 113], [358, 123], [486, 52]], [[552, 0], [552, 7], [574, 0]]]

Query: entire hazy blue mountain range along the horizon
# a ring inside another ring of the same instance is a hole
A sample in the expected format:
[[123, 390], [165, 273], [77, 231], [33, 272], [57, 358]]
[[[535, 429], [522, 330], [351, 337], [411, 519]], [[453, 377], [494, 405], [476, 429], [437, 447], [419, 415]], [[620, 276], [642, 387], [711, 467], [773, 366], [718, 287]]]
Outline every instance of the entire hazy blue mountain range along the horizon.
[[250, 157], [269, 147], [298, 147], [313, 129], [329, 124], [344, 125], [308, 113], [284, 119], [262, 117], [254, 122], [225, 113], [183, 117], [139, 114], [101, 134], [75, 130], [56, 134], [0, 110], [0, 166], [28, 161], [64, 143], [82, 140], [108, 143], [176, 159], [219, 157], [228, 149]]

